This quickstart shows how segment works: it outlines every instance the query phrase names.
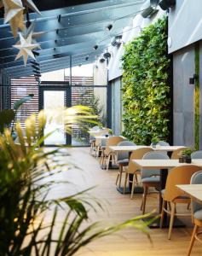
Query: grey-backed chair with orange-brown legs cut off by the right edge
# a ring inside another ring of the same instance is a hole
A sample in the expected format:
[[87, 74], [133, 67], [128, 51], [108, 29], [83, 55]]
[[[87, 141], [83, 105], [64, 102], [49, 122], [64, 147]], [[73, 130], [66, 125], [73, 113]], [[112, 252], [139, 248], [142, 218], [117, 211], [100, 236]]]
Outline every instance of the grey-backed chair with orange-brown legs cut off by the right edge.
[[[202, 184], [202, 171], [195, 172], [193, 174], [191, 184]], [[190, 245], [188, 247], [188, 256], [191, 255], [194, 241], [197, 240], [202, 242], [202, 240], [199, 238], [199, 235], [202, 233], [201, 231], [199, 232], [199, 228], [202, 228], [202, 204], [192, 200], [192, 206], [194, 228]]]

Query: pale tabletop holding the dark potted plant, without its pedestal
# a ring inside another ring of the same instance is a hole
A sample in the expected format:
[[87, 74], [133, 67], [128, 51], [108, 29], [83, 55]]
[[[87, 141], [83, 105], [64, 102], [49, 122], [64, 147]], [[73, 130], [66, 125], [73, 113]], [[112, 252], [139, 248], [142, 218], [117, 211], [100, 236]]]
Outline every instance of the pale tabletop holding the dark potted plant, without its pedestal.
[[170, 169], [176, 166], [202, 166], [201, 159], [194, 159], [191, 164], [179, 163], [179, 160], [132, 160], [137, 168], [141, 169]]

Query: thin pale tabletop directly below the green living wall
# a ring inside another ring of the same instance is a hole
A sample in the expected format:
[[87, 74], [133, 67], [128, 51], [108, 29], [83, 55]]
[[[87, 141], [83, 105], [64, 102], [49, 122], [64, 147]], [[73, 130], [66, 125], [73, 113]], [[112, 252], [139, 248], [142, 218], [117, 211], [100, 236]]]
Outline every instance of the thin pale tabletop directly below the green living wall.
[[[124, 151], [124, 152], [130, 152], [134, 151], [138, 148], [153, 148], [151, 146], [144, 146], [144, 145], [136, 145], [136, 146], [111, 146], [109, 147], [112, 151]], [[159, 146], [157, 148], [153, 148], [155, 151], [175, 151], [179, 148], [185, 148], [183, 146]]]

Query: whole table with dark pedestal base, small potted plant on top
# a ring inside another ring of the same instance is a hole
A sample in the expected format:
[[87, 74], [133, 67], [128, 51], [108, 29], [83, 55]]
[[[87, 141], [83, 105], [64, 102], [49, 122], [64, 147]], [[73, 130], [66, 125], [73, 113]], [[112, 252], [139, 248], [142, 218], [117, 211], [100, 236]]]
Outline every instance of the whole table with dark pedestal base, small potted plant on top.
[[[151, 170], [151, 169], [158, 169], [160, 170], [160, 190], [165, 188], [166, 179], [168, 176], [168, 171], [171, 168], [176, 166], [185, 166], [185, 165], [195, 165], [202, 167], [202, 159], [194, 159], [192, 160], [191, 164], [187, 163], [180, 163], [179, 160], [132, 160], [136, 168], [144, 169], [144, 170]], [[159, 193], [159, 213], [162, 209], [162, 196]], [[164, 227], [169, 226], [169, 219], [167, 213], [164, 213]], [[179, 221], [179, 219], [175, 218], [174, 227], [184, 227], [185, 225]], [[159, 219], [157, 219], [152, 225], [152, 228], [159, 228]]]

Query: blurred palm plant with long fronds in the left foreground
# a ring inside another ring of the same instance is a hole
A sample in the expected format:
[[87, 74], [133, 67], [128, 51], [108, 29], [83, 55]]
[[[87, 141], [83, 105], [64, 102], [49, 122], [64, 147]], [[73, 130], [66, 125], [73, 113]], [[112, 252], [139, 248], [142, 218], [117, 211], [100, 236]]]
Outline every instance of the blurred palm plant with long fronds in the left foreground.
[[[82, 124], [95, 119], [90, 109], [82, 106], [62, 113], [61, 109], [60, 113], [54, 111], [53, 116], [59, 122], [65, 119], [66, 131], [71, 131], [74, 122]], [[9, 129], [0, 134], [0, 255], [71, 256], [89, 242], [129, 226], [149, 237], [149, 223], [141, 222], [149, 214], [104, 228], [89, 224], [89, 210], [102, 209], [100, 200], [89, 195], [89, 189], [49, 198], [49, 191], [64, 183], [58, 181], [57, 174], [66, 172], [71, 163], [64, 163], [66, 151], [61, 148], [39, 147], [52, 134], [42, 137], [47, 119], [43, 111], [26, 119], [26, 138], [17, 123], [18, 144]], [[63, 218], [59, 210], [63, 211]]]

